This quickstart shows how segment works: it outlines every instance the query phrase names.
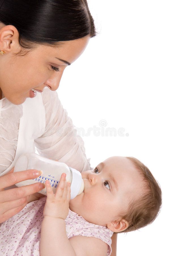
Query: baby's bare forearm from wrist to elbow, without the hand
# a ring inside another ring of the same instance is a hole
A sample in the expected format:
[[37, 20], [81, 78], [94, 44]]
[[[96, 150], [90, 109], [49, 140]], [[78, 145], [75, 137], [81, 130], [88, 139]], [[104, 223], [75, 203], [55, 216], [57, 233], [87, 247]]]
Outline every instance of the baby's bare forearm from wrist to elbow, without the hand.
[[67, 238], [65, 220], [44, 216], [41, 225], [41, 256], [76, 256], [70, 241]]

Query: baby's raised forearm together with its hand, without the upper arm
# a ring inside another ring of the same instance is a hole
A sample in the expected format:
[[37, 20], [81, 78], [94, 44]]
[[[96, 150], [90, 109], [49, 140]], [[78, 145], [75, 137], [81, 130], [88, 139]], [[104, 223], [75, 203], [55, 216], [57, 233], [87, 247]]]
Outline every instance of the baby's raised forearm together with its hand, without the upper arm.
[[55, 194], [50, 182], [45, 182], [47, 198], [41, 224], [41, 256], [76, 256], [66, 233], [65, 219], [69, 213], [70, 183], [65, 177], [66, 174], [62, 173]]

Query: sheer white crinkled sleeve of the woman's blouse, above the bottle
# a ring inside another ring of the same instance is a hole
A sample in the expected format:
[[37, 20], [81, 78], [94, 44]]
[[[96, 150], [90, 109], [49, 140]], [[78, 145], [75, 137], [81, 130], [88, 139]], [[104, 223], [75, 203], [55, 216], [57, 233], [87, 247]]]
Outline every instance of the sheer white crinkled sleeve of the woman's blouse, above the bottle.
[[45, 108], [46, 127], [41, 137], [35, 139], [40, 155], [64, 162], [69, 167], [82, 172], [92, 170], [87, 159], [84, 141], [76, 134], [75, 126], [67, 111], [61, 105], [56, 91], [44, 88], [42, 101]]

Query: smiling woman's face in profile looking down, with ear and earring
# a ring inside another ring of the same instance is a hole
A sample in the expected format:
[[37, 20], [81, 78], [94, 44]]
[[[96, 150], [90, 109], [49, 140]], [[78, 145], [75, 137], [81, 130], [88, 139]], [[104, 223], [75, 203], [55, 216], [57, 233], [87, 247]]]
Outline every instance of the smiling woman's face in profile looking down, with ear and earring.
[[43, 91], [47, 86], [52, 91], [57, 90], [64, 69], [83, 53], [90, 39], [88, 35], [65, 41], [59, 47], [39, 45], [25, 56], [15, 56], [21, 49], [18, 36], [14, 26], [0, 26], [0, 49], [5, 51], [0, 55], [0, 99], [3, 92], [16, 105], [30, 97], [31, 89]]

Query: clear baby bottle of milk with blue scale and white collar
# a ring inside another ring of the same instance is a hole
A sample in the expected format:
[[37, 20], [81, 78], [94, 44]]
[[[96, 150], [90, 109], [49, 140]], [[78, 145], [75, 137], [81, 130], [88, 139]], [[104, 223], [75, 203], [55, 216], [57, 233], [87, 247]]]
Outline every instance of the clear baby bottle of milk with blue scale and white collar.
[[[55, 193], [61, 174], [64, 172], [66, 174], [66, 181], [70, 181], [70, 199], [75, 198], [84, 191], [84, 180], [82, 179], [81, 173], [74, 168], [68, 167], [67, 164], [42, 157], [36, 153], [24, 153], [18, 158], [14, 167], [14, 172], [29, 169], [40, 170], [42, 174], [37, 178], [16, 183], [15, 185], [17, 187], [36, 182], [45, 183], [46, 179], [48, 179], [53, 193]], [[39, 191], [39, 193], [46, 195], [46, 187]]]

